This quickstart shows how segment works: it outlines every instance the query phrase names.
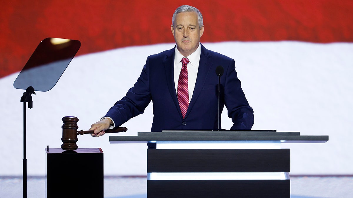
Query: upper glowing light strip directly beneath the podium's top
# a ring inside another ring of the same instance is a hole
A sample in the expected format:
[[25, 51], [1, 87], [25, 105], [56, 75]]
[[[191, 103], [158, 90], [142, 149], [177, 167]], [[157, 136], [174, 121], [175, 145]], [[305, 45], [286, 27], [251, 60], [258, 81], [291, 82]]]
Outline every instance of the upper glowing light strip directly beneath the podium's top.
[[280, 149], [281, 141], [150, 141], [156, 149]]

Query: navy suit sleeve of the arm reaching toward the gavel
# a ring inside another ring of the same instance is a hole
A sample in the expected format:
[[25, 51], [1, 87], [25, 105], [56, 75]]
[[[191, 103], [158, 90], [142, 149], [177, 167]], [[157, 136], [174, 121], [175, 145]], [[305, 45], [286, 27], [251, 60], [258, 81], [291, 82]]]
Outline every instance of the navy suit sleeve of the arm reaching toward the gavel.
[[143, 67], [140, 77], [132, 88], [130, 88], [125, 97], [117, 101], [104, 117], [113, 119], [115, 126], [120, 126], [129, 119], [144, 112], [151, 101], [149, 91], [149, 58]]

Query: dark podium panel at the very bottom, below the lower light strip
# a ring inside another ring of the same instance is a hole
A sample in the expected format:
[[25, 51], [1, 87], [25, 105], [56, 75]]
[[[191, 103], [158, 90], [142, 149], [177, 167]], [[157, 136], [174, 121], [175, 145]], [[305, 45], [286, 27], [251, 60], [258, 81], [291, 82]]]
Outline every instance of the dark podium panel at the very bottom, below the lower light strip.
[[290, 197], [290, 180], [147, 180], [147, 197]]

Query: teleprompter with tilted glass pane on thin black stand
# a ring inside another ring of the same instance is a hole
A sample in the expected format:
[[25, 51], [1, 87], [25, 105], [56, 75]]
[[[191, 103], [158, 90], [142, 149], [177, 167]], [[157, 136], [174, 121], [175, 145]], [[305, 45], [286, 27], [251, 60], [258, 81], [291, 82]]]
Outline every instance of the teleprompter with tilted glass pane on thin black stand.
[[26, 103], [33, 107], [32, 94], [35, 91], [49, 91], [64, 73], [66, 67], [80, 48], [80, 42], [62, 38], [46, 38], [41, 41], [13, 86], [26, 89], [21, 97], [23, 102], [23, 197], [27, 197], [27, 159], [26, 159]]

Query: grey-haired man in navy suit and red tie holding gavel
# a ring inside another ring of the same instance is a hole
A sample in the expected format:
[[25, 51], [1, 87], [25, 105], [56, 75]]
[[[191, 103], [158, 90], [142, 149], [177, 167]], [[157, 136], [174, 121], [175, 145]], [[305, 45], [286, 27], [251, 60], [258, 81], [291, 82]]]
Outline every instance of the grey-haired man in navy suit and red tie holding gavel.
[[[234, 123], [231, 129], [251, 129], [253, 110], [240, 87], [234, 60], [210, 51], [200, 43], [204, 32], [202, 14], [195, 7], [180, 6], [175, 10], [172, 22], [176, 47], [147, 58], [140, 77], [126, 96], [117, 101], [99, 122], [92, 124], [90, 130], [95, 130], [92, 136], [101, 136], [105, 130], [143, 113], [151, 100], [152, 132], [217, 129], [217, 66], [222, 66], [225, 71], [221, 76], [220, 105], [221, 110], [224, 105], [228, 109], [228, 116]], [[187, 79], [188, 94], [183, 96], [180, 96], [184, 91], [180, 91], [179, 77]], [[180, 101], [183, 97], [186, 107]]]

